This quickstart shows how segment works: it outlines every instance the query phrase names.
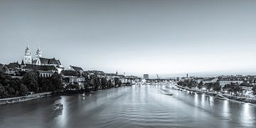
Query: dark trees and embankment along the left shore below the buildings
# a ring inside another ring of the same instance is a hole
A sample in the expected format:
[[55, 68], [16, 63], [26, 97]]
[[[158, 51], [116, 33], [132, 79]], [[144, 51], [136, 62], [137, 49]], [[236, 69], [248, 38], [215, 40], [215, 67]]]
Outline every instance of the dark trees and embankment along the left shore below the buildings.
[[107, 78], [99, 78], [97, 75], [85, 77], [84, 87], [78, 84], [63, 84], [63, 78], [58, 73], [50, 78], [41, 78], [39, 74], [30, 71], [23, 73], [22, 78], [12, 78], [0, 70], [0, 105], [33, 100], [52, 95], [75, 94], [78, 92], [92, 92], [106, 90], [122, 85], [119, 78], [114, 78], [114, 84]]

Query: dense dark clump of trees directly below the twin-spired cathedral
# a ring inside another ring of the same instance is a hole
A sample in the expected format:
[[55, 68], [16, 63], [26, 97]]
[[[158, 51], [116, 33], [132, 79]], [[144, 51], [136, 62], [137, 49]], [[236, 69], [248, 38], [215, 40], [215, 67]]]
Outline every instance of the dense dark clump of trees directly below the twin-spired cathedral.
[[61, 76], [53, 74], [50, 78], [40, 78], [33, 71], [24, 73], [23, 77], [11, 78], [0, 70], [0, 98], [18, 97], [28, 92], [56, 92], [63, 89]]

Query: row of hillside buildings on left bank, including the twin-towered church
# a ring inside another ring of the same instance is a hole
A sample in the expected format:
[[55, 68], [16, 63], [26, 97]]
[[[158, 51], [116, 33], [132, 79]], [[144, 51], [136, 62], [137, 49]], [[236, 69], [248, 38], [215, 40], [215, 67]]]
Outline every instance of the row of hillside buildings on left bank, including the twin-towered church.
[[[129, 82], [129, 80], [135, 80], [136, 76], [124, 76], [118, 75], [118, 73], [104, 73], [98, 70], [85, 71], [82, 68], [74, 65], [70, 65], [69, 68], [63, 68], [59, 59], [44, 58], [40, 47], [36, 50], [36, 55], [33, 58], [31, 55], [30, 47], [26, 46], [25, 54], [21, 63], [14, 62], [8, 65], [0, 65], [0, 68], [4, 69], [5, 73], [8, 73], [14, 78], [22, 78], [23, 73], [28, 71], [36, 71], [41, 78], [49, 78], [54, 73], [58, 73], [63, 78], [63, 85], [78, 84], [80, 88], [85, 87], [85, 77], [90, 78], [91, 75], [97, 75], [99, 78], [107, 78], [114, 82], [114, 78], [119, 78], [123, 83]], [[113, 83], [114, 85], [114, 83]]]

